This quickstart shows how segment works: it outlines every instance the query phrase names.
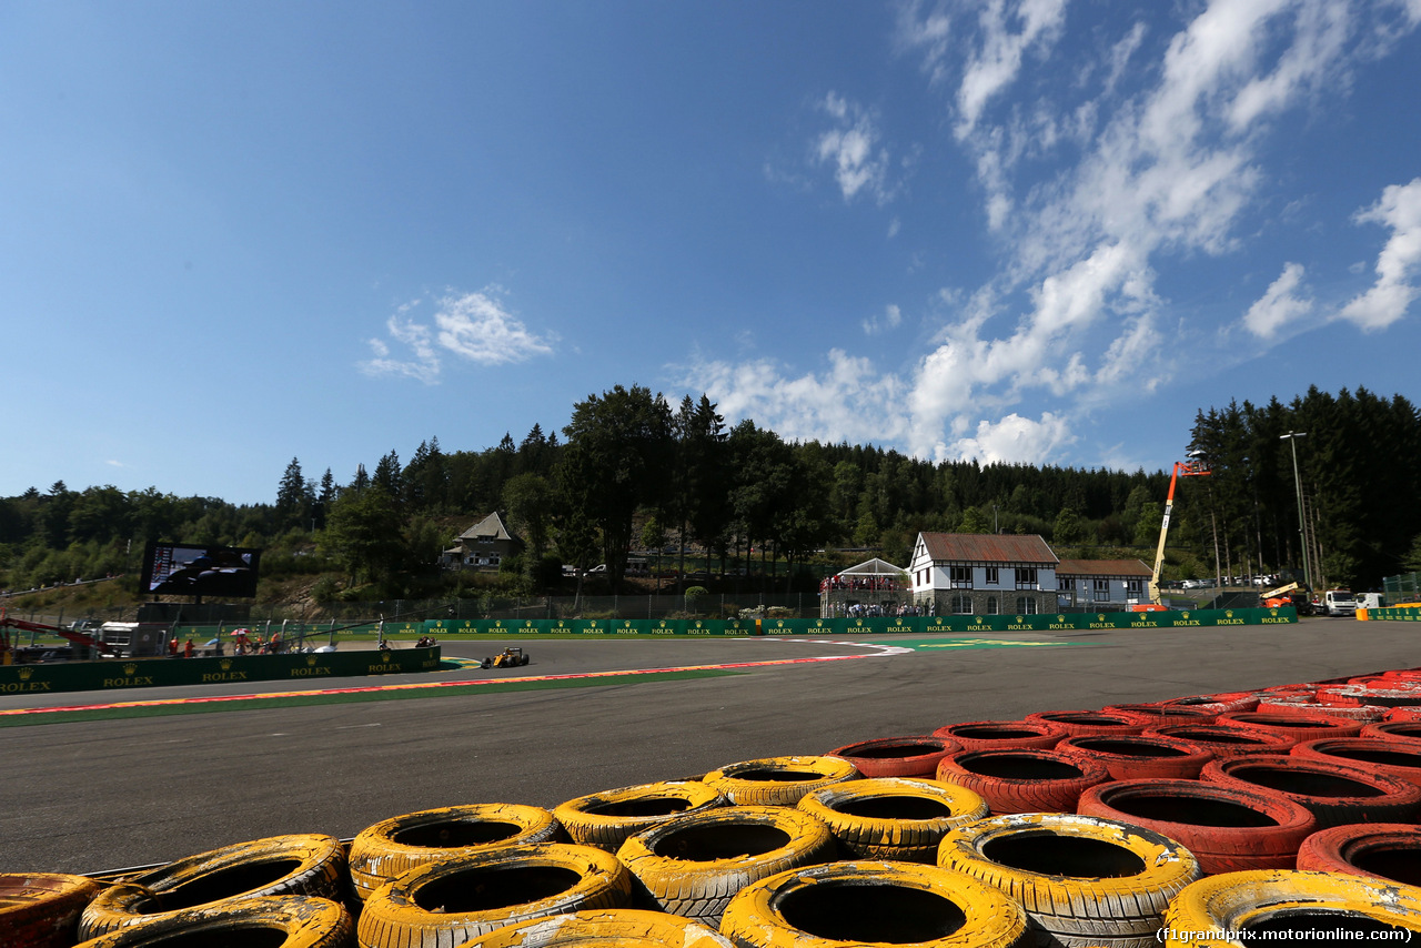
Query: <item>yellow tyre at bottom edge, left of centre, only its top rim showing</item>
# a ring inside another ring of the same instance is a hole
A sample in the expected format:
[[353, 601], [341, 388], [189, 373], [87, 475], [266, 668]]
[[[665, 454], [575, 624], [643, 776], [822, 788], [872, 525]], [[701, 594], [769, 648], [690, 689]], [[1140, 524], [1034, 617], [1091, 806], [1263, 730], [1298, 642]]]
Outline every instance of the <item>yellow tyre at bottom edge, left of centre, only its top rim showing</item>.
[[507, 925], [463, 948], [733, 948], [698, 921], [635, 908], [573, 912]]

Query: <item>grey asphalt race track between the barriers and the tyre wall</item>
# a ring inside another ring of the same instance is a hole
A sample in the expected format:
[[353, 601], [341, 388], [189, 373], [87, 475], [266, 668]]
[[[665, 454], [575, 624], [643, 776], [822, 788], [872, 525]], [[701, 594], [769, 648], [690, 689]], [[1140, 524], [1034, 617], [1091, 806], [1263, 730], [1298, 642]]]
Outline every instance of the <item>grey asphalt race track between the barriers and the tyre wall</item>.
[[[323, 688], [784, 664], [701, 678], [557, 681], [529, 691], [414, 689], [398, 701], [351, 696], [348, 704], [276, 708], [234, 701], [216, 713], [67, 723], [41, 723], [43, 713], [4, 716], [0, 871], [97, 873], [279, 833], [351, 837], [378, 820], [436, 806], [551, 807], [595, 790], [961, 721], [1410, 668], [1421, 665], [1412, 637], [1404, 623], [1309, 618], [988, 638], [544, 640], [517, 642], [531, 657], [523, 668], [337, 679]], [[443, 645], [446, 658], [502, 648]], [[310, 685], [4, 695], [0, 712], [283, 689]]]

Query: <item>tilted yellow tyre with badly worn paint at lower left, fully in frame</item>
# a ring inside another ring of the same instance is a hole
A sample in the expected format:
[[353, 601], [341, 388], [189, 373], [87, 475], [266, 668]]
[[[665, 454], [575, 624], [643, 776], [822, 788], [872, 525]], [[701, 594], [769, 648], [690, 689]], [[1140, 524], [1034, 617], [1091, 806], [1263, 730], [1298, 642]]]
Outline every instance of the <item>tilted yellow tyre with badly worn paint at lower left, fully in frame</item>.
[[104, 890], [80, 917], [80, 938], [239, 897], [342, 901], [348, 885], [345, 851], [334, 836], [271, 836], [198, 853]]

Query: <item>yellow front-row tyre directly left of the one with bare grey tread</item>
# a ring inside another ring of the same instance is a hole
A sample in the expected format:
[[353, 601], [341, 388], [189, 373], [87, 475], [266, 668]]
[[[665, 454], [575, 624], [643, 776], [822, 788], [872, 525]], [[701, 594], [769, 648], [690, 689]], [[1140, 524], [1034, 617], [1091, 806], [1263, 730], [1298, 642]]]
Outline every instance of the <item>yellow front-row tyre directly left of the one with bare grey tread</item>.
[[361, 948], [460, 945], [504, 925], [631, 905], [631, 876], [591, 846], [541, 843], [453, 856], [409, 870], [365, 900]]

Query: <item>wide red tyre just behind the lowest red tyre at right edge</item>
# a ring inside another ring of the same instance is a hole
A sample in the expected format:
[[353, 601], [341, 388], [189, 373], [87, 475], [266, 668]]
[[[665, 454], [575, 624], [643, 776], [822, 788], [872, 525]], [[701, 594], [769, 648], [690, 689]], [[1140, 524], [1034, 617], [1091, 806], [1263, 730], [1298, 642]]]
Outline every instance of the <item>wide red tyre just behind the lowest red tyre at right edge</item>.
[[1206, 783], [1268, 790], [1300, 803], [1317, 829], [1344, 823], [1408, 823], [1421, 814], [1421, 787], [1376, 770], [1334, 760], [1256, 755], [1215, 760], [1199, 777]]

